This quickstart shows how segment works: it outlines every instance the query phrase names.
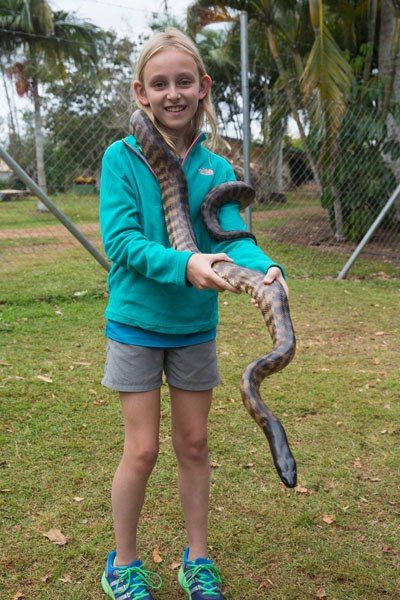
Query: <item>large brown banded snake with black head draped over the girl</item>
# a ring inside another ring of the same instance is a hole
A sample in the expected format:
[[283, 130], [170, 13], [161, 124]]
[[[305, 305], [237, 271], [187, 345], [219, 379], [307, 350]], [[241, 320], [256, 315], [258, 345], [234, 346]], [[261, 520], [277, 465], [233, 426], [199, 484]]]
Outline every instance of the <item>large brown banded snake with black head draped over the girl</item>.
[[[135, 111], [130, 125], [159, 181], [171, 246], [175, 250], [198, 253], [190, 220], [186, 178], [178, 157], [144, 111]], [[253, 198], [254, 190], [243, 182], [228, 182], [213, 188], [202, 204], [202, 218], [209, 234], [218, 240], [247, 236], [254, 238], [246, 231], [221, 230], [217, 219], [218, 210], [223, 204], [239, 202], [243, 208], [249, 205]], [[295, 353], [296, 342], [285, 291], [278, 281], [265, 285], [262, 273], [228, 261], [216, 262], [212, 268], [237, 290], [246, 292], [256, 300], [272, 338], [273, 350], [246, 367], [240, 390], [246, 409], [267, 437], [279, 477], [287, 487], [294, 487], [297, 478], [296, 462], [290, 451], [285, 430], [265, 406], [259, 392], [261, 382], [283, 369]]]

